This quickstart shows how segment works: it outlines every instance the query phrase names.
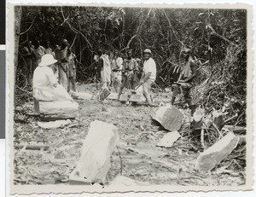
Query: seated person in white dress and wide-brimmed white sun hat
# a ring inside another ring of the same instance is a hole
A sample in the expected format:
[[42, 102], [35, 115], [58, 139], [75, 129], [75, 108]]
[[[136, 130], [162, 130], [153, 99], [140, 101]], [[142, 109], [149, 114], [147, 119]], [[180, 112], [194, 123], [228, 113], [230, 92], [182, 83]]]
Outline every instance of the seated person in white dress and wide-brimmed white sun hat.
[[39, 101], [73, 101], [67, 90], [58, 84], [52, 67], [57, 60], [53, 55], [42, 56], [42, 61], [33, 73], [34, 114], [39, 115]]

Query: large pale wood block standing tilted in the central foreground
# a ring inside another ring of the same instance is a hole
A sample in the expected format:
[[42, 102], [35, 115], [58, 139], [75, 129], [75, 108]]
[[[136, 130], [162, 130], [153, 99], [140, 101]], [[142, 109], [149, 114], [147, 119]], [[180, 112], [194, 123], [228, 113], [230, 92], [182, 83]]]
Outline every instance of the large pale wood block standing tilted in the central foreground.
[[110, 157], [118, 141], [118, 129], [113, 124], [99, 120], [90, 123], [81, 158], [69, 177], [69, 183], [105, 184], [110, 168]]

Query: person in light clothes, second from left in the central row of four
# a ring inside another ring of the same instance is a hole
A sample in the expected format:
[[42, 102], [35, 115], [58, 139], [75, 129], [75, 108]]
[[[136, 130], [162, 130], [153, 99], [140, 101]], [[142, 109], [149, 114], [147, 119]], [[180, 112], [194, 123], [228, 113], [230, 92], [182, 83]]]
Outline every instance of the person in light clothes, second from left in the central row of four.
[[119, 93], [119, 89], [122, 83], [122, 69], [123, 59], [119, 56], [118, 51], [114, 51], [113, 60], [111, 62], [112, 67], [112, 84], [116, 93]]

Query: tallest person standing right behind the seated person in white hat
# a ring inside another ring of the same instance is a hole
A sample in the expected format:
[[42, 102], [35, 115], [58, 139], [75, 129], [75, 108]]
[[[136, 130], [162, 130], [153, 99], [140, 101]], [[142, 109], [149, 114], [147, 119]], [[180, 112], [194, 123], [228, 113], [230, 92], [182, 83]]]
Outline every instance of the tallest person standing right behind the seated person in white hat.
[[63, 39], [61, 42], [61, 48], [55, 49], [55, 57], [58, 60], [59, 70], [59, 83], [67, 90], [68, 80], [68, 42], [67, 39]]

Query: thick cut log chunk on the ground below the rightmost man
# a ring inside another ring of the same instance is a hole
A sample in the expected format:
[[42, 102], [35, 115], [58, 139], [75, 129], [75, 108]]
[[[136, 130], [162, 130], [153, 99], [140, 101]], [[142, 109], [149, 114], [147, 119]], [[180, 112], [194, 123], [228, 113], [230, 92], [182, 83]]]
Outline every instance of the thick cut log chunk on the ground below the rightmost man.
[[176, 107], [166, 105], [160, 107], [152, 118], [159, 122], [166, 130], [175, 131], [179, 130], [182, 125], [183, 113]]

